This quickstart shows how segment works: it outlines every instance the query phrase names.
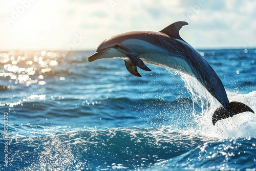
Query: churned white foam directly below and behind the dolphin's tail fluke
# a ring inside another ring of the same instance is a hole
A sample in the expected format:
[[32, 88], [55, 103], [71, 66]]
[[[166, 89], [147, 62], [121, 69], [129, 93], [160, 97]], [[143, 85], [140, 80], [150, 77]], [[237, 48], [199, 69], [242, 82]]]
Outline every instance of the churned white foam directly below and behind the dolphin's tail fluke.
[[[239, 101], [247, 104], [255, 111], [256, 91], [248, 94], [237, 94], [227, 92], [230, 101]], [[214, 112], [214, 111], [212, 111]], [[206, 117], [206, 116], [205, 116]], [[238, 138], [256, 137], [256, 115], [251, 112], [244, 112], [227, 119], [220, 120], [213, 125], [202, 126], [201, 133], [210, 137]]]

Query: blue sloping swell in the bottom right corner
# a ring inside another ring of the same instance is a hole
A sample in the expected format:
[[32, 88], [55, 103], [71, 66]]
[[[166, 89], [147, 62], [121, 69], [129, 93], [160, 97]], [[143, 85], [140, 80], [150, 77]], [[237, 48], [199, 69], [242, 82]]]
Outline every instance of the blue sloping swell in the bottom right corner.
[[254, 170], [255, 138], [207, 142], [145, 170]]

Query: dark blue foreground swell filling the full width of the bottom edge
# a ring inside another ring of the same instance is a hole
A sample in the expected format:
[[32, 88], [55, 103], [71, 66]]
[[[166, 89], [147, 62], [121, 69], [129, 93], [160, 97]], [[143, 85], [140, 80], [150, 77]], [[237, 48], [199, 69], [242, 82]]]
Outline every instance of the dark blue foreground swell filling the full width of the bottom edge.
[[[8, 149], [12, 152], [10, 161], [15, 163], [9, 167], [22, 170], [206, 170], [256, 166], [256, 139], [253, 137], [219, 140], [164, 127], [135, 126], [82, 130], [56, 127], [52, 131], [55, 133], [11, 137]], [[0, 143], [4, 143], [3, 138]]]

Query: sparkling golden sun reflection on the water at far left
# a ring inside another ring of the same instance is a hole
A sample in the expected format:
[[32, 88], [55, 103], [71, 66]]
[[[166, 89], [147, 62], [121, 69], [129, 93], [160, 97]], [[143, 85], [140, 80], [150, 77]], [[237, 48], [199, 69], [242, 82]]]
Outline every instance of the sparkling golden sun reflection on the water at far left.
[[54, 67], [65, 53], [56, 51], [9, 51], [0, 53], [0, 86], [10, 89], [15, 84], [37, 83], [44, 86], [47, 74], [54, 74]]

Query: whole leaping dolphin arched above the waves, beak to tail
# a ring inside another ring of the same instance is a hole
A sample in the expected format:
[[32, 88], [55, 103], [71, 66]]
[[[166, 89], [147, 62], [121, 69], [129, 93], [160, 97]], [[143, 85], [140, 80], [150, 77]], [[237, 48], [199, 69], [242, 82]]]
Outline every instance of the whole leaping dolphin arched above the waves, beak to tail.
[[97, 59], [122, 58], [126, 69], [141, 77], [137, 67], [151, 71], [145, 63], [175, 70], [195, 77], [203, 87], [214, 96], [221, 106], [212, 114], [212, 124], [218, 120], [243, 112], [253, 112], [241, 102], [229, 102], [223, 83], [209, 63], [185, 40], [179, 31], [186, 22], [173, 23], [159, 32], [132, 31], [105, 39], [96, 52], [88, 57]]

